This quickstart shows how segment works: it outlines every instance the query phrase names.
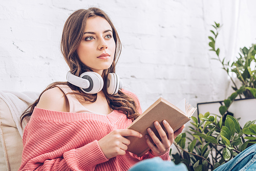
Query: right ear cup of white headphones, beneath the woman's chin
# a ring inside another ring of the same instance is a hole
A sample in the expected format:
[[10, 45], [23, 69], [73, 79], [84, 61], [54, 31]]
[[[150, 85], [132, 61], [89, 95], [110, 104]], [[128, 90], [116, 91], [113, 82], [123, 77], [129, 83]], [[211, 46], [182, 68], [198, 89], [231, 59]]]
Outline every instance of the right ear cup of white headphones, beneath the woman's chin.
[[109, 73], [108, 81], [106, 84], [106, 90], [110, 95], [114, 95], [118, 92], [120, 85], [119, 76], [115, 73]]

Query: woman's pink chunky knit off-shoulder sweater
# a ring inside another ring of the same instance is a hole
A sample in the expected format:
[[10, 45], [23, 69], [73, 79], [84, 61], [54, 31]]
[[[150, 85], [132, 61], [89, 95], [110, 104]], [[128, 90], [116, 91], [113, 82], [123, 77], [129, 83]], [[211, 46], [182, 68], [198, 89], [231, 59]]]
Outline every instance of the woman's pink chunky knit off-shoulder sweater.
[[[98, 140], [132, 123], [120, 111], [109, 115], [70, 113], [35, 108], [24, 130], [23, 158], [19, 170], [127, 170], [135, 163], [153, 158], [127, 152], [105, 157]], [[168, 152], [160, 156], [170, 160]]]

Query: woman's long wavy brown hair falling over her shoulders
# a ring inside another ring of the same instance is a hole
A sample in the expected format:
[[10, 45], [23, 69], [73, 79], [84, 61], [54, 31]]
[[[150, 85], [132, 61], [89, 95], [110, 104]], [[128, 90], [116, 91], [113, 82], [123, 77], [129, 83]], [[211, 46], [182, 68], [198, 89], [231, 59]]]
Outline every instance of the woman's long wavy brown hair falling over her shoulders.
[[[80, 10], [73, 12], [68, 17], [68, 19], [63, 27], [60, 48], [61, 48], [61, 53], [62, 53], [65, 61], [67, 62], [68, 66], [70, 67], [70, 72], [72, 74], [79, 76], [83, 72], [92, 71], [88, 66], [84, 65], [84, 63], [82, 63], [80, 61], [80, 59], [76, 53], [76, 49], [78, 48], [78, 46], [82, 40], [82, 36], [83, 36], [84, 28], [86, 27], [87, 19], [89, 17], [93, 17], [93, 16], [100, 16], [108, 21], [108, 23], [112, 27], [113, 38], [114, 38], [115, 44], [116, 44], [114, 61], [111, 65], [111, 67], [109, 69], [104, 70], [102, 73], [103, 80], [104, 80], [104, 82], [106, 82], [108, 74], [115, 73], [116, 62], [118, 61], [118, 58], [121, 53], [121, 42], [120, 42], [118, 33], [117, 33], [111, 19], [104, 11], [102, 11], [99, 8], [89, 8], [87, 10], [80, 9]], [[20, 117], [20, 124], [22, 124], [24, 119], [30, 118], [41, 95], [44, 92], [46, 92], [47, 90], [52, 89], [59, 84], [66, 84], [72, 90], [79, 92], [79, 93], [74, 93], [74, 94], [81, 96], [84, 101], [95, 102], [97, 99], [97, 94], [86, 94], [86, 93], [82, 92], [78, 87], [72, 85], [69, 82], [53, 82], [39, 95], [38, 99], [33, 104], [31, 104], [29, 106], [29, 108], [22, 114], [22, 116]], [[132, 120], [135, 120], [139, 116], [139, 113], [137, 111], [136, 102], [134, 101], [133, 98], [122, 93], [120, 90], [115, 95], [109, 95], [106, 91], [106, 84], [104, 84], [102, 90], [106, 96], [106, 100], [108, 101], [110, 107], [113, 110], [122, 111], [127, 116], [127, 118], [132, 119]]]

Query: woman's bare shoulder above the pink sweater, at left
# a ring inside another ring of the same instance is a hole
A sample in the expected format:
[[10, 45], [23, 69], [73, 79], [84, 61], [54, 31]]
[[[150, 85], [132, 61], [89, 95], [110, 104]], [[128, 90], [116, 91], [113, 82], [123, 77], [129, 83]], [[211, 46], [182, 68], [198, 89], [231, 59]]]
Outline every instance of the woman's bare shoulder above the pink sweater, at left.
[[68, 99], [64, 92], [58, 87], [54, 87], [44, 92], [36, 107], [52, 111], [69, 112]]

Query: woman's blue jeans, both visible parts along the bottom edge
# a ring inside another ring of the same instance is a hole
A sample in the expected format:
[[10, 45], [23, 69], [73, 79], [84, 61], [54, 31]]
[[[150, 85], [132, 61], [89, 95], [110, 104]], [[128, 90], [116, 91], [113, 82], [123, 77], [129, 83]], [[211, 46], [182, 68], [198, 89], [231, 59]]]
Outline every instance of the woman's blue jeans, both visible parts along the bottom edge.
[[[187, 167], [183, 163], [175, 165], [173, 161], [163, 161], [159, 157], [143, 160], [129, 169], [129, 171], [185, 171]], [[255, 171], [256, 170], [256, 144], [246, 148], [242, 153], [222, 164], [214, 171]]]

